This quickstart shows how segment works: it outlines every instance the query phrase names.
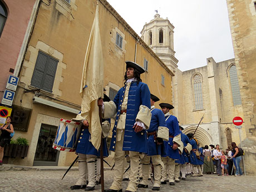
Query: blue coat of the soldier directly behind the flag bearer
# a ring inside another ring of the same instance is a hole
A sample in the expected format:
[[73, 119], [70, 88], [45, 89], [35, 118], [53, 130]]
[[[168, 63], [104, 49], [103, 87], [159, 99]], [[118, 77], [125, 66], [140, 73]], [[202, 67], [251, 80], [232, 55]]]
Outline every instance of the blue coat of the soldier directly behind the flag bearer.
[[[166, 127], [165, 116], [163, 111], [160, 109], [151, 110], [151, 121], [150, 127], [147, 132], [154, 132], [158, 130], [158, 127]], [[157, 149], [156, 149], [157, 146]], [[166, 155], [166, 150], [164, 144], [156, 145], [154, 135], [147, 137], [147, 155]]]

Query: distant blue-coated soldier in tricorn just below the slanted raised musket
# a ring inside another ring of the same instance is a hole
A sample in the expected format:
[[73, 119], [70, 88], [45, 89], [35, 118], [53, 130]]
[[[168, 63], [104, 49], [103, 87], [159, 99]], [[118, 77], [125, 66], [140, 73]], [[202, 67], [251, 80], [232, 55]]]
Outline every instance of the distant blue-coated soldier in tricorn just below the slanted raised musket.
[[202, 162], [199, 160], [200, 155], [199, 157], [197, 157], [195, 154], [195, 152], [198, 151], [198, 141], [195, 138], [193, 138], [194, 134], [186, 134], [186, 136], [189, 137], [190, 145], [192, 147], [192, 150], [190, 151], [190, 154], [189, 154], [189, 161], [193, 166], [193, 175], [191, 176], [203, 176], [203, 173], [200, 168], [200, 165], [202, 164]]

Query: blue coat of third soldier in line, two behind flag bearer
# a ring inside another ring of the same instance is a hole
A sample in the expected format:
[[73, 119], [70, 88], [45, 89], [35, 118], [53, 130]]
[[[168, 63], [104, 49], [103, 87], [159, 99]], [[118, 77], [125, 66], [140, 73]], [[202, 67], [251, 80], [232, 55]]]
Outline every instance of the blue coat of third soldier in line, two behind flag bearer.
[[[169, 136], [177, 136], [180, 134], [180, 128], [177, 117], [170, 115], [165, 117], [166, 125], [169, 129]], [[164, 141], [167, 156], [171, 159], [179, 159], [179, 150], [173, 150], [173, 138], [169, 137], [169, 141]], [[165, 156], [165, 155], [163, 155]]]

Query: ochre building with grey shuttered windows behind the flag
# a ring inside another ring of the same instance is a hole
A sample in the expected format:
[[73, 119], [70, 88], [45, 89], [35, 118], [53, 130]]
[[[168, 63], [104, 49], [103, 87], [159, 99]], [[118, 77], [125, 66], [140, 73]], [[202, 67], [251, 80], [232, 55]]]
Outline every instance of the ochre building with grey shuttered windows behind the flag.
[[52, 140], [60, 119], [70, 120], [80, 111], [83, 61], [96, 2], [106, 94], [113, 99], [124, 86], [125, 61], [130, 60], [145, 68], [141, 78], [152, 93], [163, 101], [172, 100], [173, 72], [107, 1], [40, 1], [24, 61], [17, 67], [19, 84], [13, 101], [17, 111], [26, 111], [27, 119], [14, 127], [18, 127], [15, 137], [29, 140], [29, 151], [25, 159], [9, 159], [8, 163], [64, 166], [75, 159], [72, 152], [53, 152]]

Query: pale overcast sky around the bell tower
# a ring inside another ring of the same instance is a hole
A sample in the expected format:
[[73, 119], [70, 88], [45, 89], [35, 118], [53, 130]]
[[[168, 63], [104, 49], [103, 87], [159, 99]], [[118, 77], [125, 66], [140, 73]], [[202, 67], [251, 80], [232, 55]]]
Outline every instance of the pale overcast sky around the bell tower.
[[174, 51], [181, 71], [234, 58], [225, 0], [107, 0], [141, 36], [158, 10], [174, 25]]

